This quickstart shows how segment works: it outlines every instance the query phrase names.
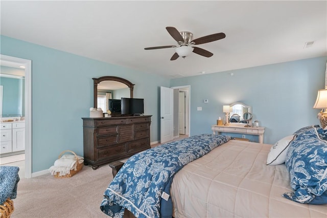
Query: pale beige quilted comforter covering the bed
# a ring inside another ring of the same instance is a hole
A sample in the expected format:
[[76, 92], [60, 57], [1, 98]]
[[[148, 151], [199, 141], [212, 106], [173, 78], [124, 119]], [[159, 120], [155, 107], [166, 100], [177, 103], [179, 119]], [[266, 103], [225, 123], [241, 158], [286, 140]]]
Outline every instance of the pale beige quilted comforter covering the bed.
[[230, 140], [174, 177], [174, 217], [327, 217], [327, 205], [299, 204], [285, 164], [267, 166], [271, 145]]

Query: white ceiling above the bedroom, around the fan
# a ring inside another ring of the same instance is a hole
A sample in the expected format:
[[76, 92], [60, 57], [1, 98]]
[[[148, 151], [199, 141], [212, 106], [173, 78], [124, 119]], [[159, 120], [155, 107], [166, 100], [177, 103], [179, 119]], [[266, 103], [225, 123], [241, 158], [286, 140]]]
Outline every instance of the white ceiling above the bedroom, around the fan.
[[[144, 50], [177, 45], [167, 26], [226, 38], [171, 61]], [[170, 78], [324, 56], [326, 30], [327, 1], [1, 1], [2, 35]]]

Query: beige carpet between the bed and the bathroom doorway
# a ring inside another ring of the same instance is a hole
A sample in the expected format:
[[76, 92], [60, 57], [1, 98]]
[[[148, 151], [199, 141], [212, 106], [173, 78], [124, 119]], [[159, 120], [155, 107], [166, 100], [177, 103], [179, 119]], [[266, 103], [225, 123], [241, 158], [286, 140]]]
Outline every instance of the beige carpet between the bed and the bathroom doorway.
[[103, 193], [112, 181], [111, 168], [84, 166], [71, 178], [43, 175], [18, 182], [11, 217], [109, 217], [100, 210]]

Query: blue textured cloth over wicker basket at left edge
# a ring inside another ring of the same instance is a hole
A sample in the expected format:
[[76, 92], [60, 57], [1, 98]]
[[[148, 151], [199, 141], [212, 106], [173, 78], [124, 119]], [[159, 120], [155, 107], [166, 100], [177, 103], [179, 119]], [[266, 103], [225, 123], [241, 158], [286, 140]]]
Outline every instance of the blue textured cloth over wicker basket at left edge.
[[3, 205], [8, 198], [16, 198], [18, 171], [17, 166], [0, 166], [0, 205]]

